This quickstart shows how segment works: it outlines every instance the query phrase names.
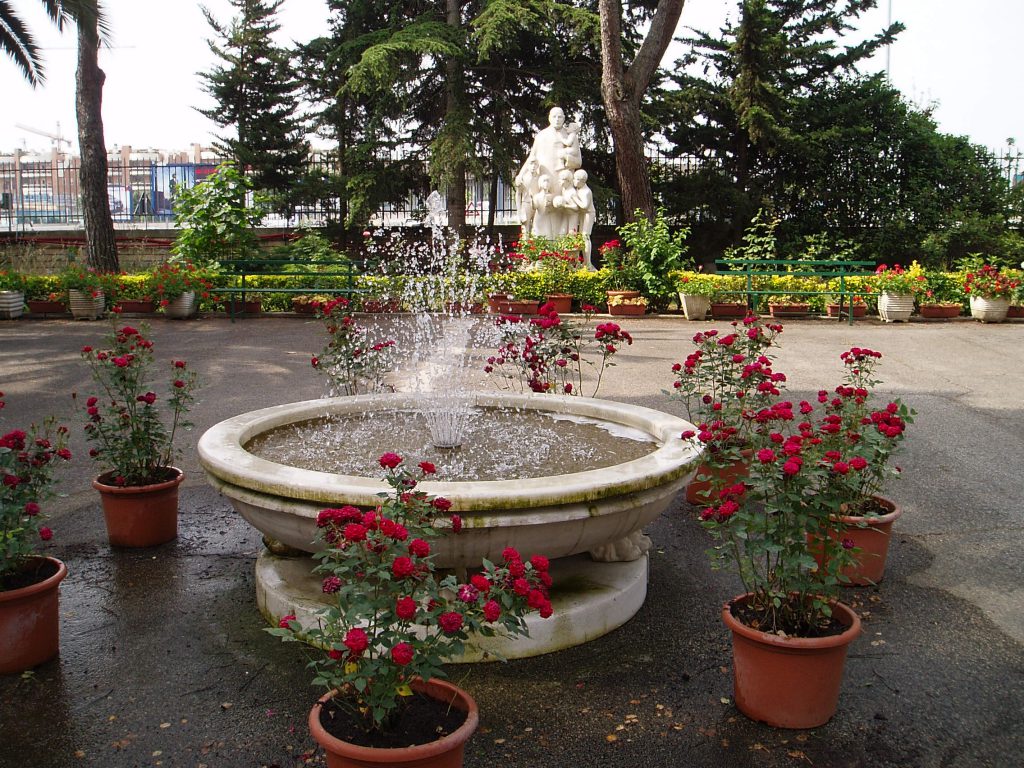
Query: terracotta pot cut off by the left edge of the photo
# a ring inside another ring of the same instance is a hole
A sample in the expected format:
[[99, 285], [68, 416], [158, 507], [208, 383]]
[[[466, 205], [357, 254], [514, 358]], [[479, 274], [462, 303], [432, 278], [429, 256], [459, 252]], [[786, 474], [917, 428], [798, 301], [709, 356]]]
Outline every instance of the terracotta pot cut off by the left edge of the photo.
[[52, 563], [56, 572], [16, 590], [0, 592], [0, 675], [32, 669], [53, 658], [60, 649], [58, 600], [68, 566], [53, 557], [34, 558]]

